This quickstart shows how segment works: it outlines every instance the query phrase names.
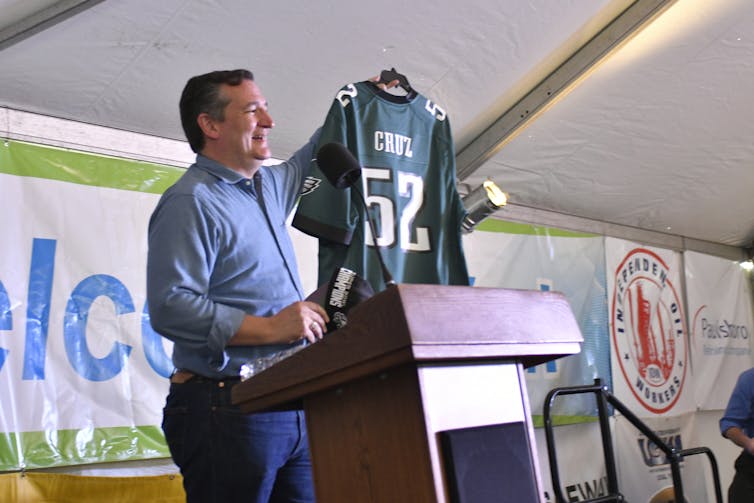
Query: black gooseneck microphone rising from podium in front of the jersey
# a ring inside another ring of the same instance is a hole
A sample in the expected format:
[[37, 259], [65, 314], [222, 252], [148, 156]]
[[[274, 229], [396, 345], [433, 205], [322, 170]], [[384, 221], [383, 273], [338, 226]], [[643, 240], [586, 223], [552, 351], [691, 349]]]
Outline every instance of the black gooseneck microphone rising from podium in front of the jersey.
[[354, 157], [348, 148], [342, 143], [331, 142], [326, 143], [320, 147], [317, 152], [317, 165], [319, 169], [324, 173], [325, 177], [336, 189], [346, 189], [352, 187], [361, 201], [361, 205], [364, 208], [364, 214], [366, 215], [369, 228], [372, 230], [372, 236], [374, 237], [374, 251], [377, 253], [377, 260], [380, 263], [380, 269], [382, 269], [382, 280], [386, 286], [395, 285], [393, 275], [385, 265], [385, 259], [382, 257], [382, 251], [377, 244], [377, 231], [375, 230], [372, 219], [369, 218], [369, 207], [364, 199], [364, 194], [358, 189], [356, 181], [361, 178], [361, 164]]

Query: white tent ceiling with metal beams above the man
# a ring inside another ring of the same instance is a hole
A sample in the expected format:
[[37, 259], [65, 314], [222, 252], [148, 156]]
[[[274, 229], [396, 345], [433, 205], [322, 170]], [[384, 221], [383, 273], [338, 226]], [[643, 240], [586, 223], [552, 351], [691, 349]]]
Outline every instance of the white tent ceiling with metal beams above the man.
[[505, 211], [749, 247], [753, 34], [750, 0], [0, 0], [0, 106], [182, 139], [186, 79], [247, 67], [282, 158], [395, 67]]

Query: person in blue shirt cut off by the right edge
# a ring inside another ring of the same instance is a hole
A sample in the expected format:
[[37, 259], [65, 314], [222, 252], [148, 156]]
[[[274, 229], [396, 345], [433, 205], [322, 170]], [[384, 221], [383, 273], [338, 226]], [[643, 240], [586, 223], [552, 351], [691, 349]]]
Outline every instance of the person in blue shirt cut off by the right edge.
[[741, 373], [733, 388], [720, 432], [743, 448], [735, 463], [736, 474], [728, 488], [729, 503], [754, 501], [754, 368]]

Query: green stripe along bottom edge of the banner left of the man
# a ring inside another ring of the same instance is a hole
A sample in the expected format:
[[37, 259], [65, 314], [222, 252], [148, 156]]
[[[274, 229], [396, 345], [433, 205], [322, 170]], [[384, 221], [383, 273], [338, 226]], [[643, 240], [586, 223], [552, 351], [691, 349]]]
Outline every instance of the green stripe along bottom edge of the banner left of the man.
[[[0, 435], [0, 471], [168, 457], [170, 451], [159, 426]], [[18, 466], [19, 459], [23, 466]]]

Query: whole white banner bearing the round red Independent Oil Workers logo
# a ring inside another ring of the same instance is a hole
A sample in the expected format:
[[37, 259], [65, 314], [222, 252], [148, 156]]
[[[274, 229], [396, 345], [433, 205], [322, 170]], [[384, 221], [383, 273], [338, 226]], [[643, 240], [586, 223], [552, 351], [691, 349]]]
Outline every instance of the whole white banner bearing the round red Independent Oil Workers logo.
[[680, 254], [607, 238], [615, 396], [639, 417], [694, 409]]

